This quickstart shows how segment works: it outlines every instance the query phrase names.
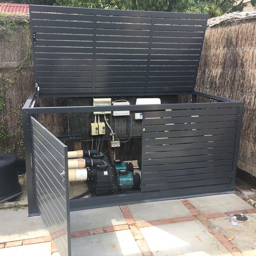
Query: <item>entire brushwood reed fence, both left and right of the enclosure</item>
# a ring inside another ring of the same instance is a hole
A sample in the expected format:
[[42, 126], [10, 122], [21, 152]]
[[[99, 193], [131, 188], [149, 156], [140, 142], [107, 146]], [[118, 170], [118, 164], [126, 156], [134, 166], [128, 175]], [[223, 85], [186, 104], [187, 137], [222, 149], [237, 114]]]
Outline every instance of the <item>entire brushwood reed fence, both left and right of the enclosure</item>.
[[[256, 20], [250, 16], [243, 22], [241, 17], [234, 18], [234, 14], [232, 18], [235, 24], [225, 17], [224, 25], [216, 25], [218, 22], [214, 20], [214, 26], [207, 28], [196, 89], [245, 102], [238, 167], [256, 176]], [[21, 72], [9, 86], [8, 78], [26, 56]], [[18, 158], [24, 157], [21, 108], [34, 91], [31, 56], [28, 26], [17, 25], [14, 33], [0, 38], [0, 88], [6, 87], [5, 106], [0, 109], [0, 152], [13, 152]], [[66, 105], [66, 102], [51, 99], [41, 104]], [[44, 115], [40, 121], [55, 135], [67, 134], [66, 115]], [[133, 143], [127, 145], [128, 152], [139, 144]]]

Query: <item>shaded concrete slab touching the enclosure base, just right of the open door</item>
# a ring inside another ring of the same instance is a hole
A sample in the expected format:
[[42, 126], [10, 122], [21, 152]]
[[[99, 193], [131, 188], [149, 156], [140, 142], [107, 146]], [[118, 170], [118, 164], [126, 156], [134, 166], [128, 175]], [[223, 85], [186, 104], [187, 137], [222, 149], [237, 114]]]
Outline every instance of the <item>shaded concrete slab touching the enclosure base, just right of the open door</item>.
[[72, 232], [126, 224], [119, 206], [72, 211], [70, 221]]

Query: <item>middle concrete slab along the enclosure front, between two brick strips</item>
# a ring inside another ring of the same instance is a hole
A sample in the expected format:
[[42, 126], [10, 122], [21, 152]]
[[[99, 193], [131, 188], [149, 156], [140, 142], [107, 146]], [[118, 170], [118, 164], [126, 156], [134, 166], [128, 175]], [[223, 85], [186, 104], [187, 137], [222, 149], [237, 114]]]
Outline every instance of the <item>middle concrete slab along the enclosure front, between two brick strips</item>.
[[128, 208], [137, 222], [192, 215], [180, 200], [136, 203]]

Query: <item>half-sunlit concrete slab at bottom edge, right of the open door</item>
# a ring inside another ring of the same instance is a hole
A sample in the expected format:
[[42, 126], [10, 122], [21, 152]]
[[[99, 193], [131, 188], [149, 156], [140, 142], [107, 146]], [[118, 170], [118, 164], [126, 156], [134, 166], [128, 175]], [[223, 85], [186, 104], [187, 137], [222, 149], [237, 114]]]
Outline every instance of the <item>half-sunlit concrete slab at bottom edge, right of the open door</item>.
[[130, 230], [72, 238], [75, 256], [142, 256]]

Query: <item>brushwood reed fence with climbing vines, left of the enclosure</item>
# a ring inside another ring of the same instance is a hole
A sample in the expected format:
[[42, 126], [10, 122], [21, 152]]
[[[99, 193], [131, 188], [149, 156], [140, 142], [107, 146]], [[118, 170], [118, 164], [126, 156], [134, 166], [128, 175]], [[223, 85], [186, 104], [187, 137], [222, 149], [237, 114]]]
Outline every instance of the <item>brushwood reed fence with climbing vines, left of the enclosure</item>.
[[[12, 20], [14, 17], [5, 16], [5, 19]], [[21, 109], [27, 97], [35, 91], [35, 83], [30, 27], [22, 22], [27, 17], [15, 19], [15, 30], [0, 35], [0, 152], [11, 152], [22, 159], [24, 143]], [[46, 104], [62, 105], [63, 99], [51, 99]], [[55, 135], [66, 133], [65, 115], [43, 115], [40, 120]]]

